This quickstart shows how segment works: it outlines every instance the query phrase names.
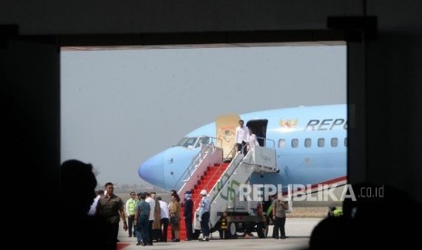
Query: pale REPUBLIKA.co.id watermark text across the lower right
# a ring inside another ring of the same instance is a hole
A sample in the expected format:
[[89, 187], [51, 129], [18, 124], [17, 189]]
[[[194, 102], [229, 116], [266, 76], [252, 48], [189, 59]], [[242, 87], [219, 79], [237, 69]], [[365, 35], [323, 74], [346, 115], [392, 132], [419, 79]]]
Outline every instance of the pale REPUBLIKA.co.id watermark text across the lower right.
[[350, 184], [242, 184], [240, 185], [240, 201], [267, 201], [271, 196], [282, 193], [293, 201], [344, 201], [358, 198], [384, 197], [384, 185], [378, 187], [353, 187]]

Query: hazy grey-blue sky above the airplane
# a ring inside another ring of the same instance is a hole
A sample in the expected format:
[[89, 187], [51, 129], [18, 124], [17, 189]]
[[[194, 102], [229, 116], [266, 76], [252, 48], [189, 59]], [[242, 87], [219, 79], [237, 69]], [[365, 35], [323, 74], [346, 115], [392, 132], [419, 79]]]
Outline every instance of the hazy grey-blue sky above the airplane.
[[61, 159], [99, 184], [222, 114], [346, 103], [346, 46], [63, 50]]

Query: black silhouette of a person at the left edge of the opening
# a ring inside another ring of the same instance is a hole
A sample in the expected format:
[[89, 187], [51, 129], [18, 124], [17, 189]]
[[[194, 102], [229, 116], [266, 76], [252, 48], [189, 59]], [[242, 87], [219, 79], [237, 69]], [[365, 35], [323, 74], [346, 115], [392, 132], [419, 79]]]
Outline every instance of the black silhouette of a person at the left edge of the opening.
[[96, 185], [91, 164], [76, 159], [64, 161], [61, 166], [61, 224], [58, 229], [60, 242], [66, 248], [105, 249], [101, 221], [88, 216]]

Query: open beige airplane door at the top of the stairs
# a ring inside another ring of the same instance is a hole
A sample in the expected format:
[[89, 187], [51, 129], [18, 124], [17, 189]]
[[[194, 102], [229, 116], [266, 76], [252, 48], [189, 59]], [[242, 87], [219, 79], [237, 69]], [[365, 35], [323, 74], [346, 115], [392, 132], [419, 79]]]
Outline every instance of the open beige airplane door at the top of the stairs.
[[237, 114], [221, 115], [215, 120], [217, 147], [222, 148], [224, 159], [232, 159], [236, 155], [234, 133], [239, 126], [240, 116]]

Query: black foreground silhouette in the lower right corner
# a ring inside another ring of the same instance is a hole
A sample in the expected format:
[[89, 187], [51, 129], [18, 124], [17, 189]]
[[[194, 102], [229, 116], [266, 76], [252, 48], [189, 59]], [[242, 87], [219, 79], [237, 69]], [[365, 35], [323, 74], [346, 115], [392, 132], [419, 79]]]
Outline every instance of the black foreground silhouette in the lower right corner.
[[420, 204], [388, 185], [359, 183], [352, 189], [356, 200], [345, 199], [342, 216], [329, 216], [314, 228], [310, 249], [418, 245], [420, 233], [409, 225], [421, 221]]

